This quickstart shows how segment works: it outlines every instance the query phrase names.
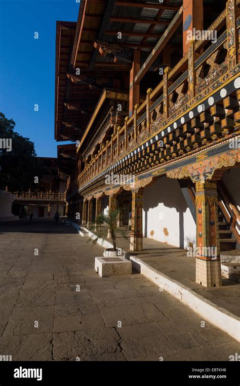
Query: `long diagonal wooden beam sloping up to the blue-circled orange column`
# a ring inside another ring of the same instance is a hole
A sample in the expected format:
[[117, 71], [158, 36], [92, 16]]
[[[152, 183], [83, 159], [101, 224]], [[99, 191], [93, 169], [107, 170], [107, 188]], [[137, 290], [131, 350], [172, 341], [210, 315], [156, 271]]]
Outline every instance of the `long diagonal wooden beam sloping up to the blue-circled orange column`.
[[173, 36], [174, 32], [182, 22], [182, 13], [183, 13], [183, 8], [181, 7], [179, 11], [176, 13], [175, 17], [171, 21], [169, 27], [167, 28], [167, 33], [162, 36], [161, 39], [157, 42], [155, 45], [155, 48], [152, 50], [150, 55], [148, 56], [147, 60], [143, 64], [143, 66], [140, 68], [138, 74], [136, 75], [134, 79], [134, 83], [139, 84], [140, 80], [143, 78], [143, 76], [146, 74], [148, 71], [149, 67], [151, 64], [154, 62], [154, 60], [157, 58], [159, 53], [164, 49], [164, 47], [167, 45], [168, 41], [170, 38]]

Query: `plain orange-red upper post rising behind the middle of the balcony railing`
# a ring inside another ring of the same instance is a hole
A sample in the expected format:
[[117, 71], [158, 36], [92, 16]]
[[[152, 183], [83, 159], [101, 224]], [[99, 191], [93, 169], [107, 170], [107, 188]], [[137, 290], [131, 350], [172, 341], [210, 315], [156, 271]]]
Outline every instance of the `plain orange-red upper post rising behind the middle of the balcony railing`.
[[134, 50], [133, 65], [130, 71], [130, 88], [129, 88], [129, 117], [133, 115], [135, 104], [139, 103], [140, 85], [134, 83], [134, 78], [140, 70], [140, 53], [139, 50]]

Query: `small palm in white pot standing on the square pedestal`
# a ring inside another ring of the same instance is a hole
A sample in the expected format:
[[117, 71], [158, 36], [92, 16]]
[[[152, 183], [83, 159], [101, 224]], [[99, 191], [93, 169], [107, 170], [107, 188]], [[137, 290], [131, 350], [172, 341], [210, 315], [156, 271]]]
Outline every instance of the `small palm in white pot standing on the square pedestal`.
[[[122, 249], [116, 247], [116, 232], [128, 240], [128, 236], [126, 235], [125, 231], [116, 228], [116, 220], [120, 213], [121, 209], [107, 210], [106, 213], [100, 213], [96, 217], [95, 224], [92, 227], [92, 229], [94, 229], [97, 225], [97, 228], [100, 228], [100, 230], [97, 230], [95, 232], [96, 237], [94, 239], [89, 240], [92, 241], [92, 244], [96, 244], [100, 238], [102, 239], [102, 241], [104, 241], [106, 238], [108, 238], [108, 236], [110, 236], [109, 238], [112, 241], [113, 248], [106, 248], [104, 250], [103, 256], [105, 257], [114, 257], [122, 255]], [[101, 228], [101, 225], [105, 227]]]

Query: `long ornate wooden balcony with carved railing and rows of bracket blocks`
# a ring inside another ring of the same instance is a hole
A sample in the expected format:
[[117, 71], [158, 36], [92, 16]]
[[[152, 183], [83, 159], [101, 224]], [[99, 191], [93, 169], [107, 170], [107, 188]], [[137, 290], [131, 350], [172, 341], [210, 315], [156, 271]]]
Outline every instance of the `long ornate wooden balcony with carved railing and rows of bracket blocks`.
[[[208, 29], [218, 31], [215, 43], [191, 42], [188, 54], [173, 69], [165, 69], [162, 82], [148, 89], [133, 116], [125, 118], [125, 125], [85, 165], [70, 186], [71, 195], [85, 195], [104, 186], [107, 173], [139, 174], [239, 132], [240, 18], [231, 12], [224, 10]], [[227, 33], [226, 20], [228, 29], [231, 20], [235, 37]]]

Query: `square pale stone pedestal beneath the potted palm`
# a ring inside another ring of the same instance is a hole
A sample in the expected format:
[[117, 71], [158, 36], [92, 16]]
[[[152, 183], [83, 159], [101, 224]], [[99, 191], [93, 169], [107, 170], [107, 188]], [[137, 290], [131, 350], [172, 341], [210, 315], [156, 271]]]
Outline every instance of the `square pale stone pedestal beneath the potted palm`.
[[101, 277], [132, 274], [132, 263], [124, 257], [95, 257], [95, 270]]

